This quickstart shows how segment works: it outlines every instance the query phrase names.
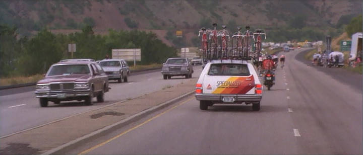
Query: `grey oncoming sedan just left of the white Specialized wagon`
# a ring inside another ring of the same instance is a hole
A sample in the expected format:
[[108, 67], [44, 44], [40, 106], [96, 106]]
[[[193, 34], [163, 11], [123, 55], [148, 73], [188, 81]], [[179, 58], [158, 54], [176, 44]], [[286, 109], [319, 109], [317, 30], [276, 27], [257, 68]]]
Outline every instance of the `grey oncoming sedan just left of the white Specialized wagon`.
[[168, 58], [161, 69], [164, 80], [170, 79], [171, 76], [185, 76], [188, 79], [192, 77], [193, 72], [188, 58]]

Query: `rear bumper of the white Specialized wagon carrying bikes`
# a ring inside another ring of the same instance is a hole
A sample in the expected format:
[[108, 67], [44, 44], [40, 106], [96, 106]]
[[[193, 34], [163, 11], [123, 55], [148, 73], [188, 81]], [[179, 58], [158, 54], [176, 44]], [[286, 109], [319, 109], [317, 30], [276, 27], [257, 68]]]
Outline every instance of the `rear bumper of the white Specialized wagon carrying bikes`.
[[262, 94], [252, 94], [252, 95], [196, 94], [195, 97], [199, 101], [223, 102], [223, 97], [233, 97], [234, 102], [260, 102], [262, 99]]

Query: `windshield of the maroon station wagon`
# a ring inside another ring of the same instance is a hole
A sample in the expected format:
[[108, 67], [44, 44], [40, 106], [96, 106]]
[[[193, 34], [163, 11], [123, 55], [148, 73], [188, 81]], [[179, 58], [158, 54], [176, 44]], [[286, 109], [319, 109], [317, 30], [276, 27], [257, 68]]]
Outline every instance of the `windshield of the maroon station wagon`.
[[90, 70], [87, 64], [53, 65], [48, 76], [70, 74], [90, 74]]

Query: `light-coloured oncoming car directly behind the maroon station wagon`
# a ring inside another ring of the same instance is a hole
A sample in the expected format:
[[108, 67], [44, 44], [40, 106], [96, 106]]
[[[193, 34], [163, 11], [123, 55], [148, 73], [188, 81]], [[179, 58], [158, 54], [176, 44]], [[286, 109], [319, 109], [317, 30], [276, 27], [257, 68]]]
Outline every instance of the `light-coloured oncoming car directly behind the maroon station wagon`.
[[108, 80], [117, 80], [117, 83], [128, 82], [130, 68], [124, 59], [103, 59], [99, 61], [103, 70], [108, 76]]

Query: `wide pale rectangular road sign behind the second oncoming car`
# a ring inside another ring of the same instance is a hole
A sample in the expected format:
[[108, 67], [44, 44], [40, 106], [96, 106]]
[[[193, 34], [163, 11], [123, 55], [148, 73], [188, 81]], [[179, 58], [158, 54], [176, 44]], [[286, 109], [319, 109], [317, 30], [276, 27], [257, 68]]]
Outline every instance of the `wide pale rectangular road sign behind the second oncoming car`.
[[134, 66], [136, 61], [141, 61], [141, 49], [140, 48], [124, 48], [124, 49], [112, 49], [113, 59], [124, 59], [126, 61], [134, 60]]

